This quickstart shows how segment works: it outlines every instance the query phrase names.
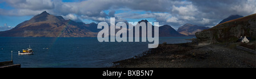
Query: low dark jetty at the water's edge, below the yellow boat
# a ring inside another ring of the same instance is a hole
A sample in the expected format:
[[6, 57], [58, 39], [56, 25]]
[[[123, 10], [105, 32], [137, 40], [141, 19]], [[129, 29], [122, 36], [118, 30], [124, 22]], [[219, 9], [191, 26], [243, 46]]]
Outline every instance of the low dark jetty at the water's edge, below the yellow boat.
[[13, 64], [13, 60], [0, 62], [0, 68], [20, 68], [20, 64]]

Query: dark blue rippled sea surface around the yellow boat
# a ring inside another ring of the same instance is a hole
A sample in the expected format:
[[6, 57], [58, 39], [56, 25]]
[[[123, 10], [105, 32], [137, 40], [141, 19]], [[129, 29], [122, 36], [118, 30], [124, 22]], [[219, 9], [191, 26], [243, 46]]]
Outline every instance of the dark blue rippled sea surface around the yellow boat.
[[[159, 43], [185, 43], [195, 37], [160, 37]], [[0, 37], [0, 62], [11, 60], [22, 68], [101, 68], [133, 58], [148, 50], [150, 42], [98, 42], [97, 38]], [[34, 50], [33, 55], [18, 51]]]

